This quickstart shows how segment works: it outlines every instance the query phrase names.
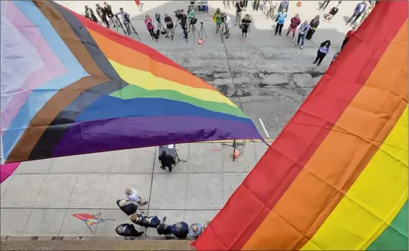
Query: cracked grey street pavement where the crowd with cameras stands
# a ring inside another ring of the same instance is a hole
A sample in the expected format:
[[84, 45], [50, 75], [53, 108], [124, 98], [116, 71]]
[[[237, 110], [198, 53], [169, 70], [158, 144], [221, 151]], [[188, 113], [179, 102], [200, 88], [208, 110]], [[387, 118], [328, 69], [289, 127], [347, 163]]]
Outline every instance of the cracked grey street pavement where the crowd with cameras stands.
[[[102, 4], [102, 1], [57, 2], [77, 13], [84, 11], [85, 4], [92, 8], [97, 3]], [[200, 28], [200, 22], [203, 22], [207, 33], [203, 47], [197, 45], [197, 34], [193, 41], [192, 33], [189, 33], [188, 43], [182, 39], [182, 36], [175, 36], [174, 41], [165, 39], [163, 36], [160, 36], [158, 42], [151, 41], [143, 24], [143, 18], [148, 14], [156, 26], [155, 13], [161, 14], [162, 22], [165, 13], [169, 14], [175, 22], [173, 11], [186, 10], [190, 1], [141, 2], [143, 12], [138, 10], [134, 1], [108, 1], [114, 11], [119, 11], [119, 8], [123, 7], [129, 12], [142, 43], [155, 48], [191, 73], [217, 87], [236, 105], [242, 107], [266, 139], [277, 137], [288, 119], [293, 117], [305, 97], [310, 94], [312, 87], [325, 73], [334, 53], [339, 50], [345, 34], [351, 29], [351, 26], [345, 25], [345, 21], [359, 3], [359, 1], [344, 1], [332, 22], [321, 21], [312, 41], [305, 41], [304, 49], [300, 50], [295, 47], [295, 41], [290, 42], [290, 39], [284, 40], [283, 36], [274, 36], [271, 27], [274, 24], [273, 21], [266, 19], [261, 11], [253, 11], [251, 8], [253, 1], [249, 1], [244, 14], [249, 14], [253, 23], [247, 41], [245, 43], [241, 41], [241, 30], [238, 26], [233, 26], [231, 38], [224, 40], [226, 50], [220, 36], [214, 34], [216, 26], [212, 21], [212, 14], [217, 8], [227, 11], [231, 21], [234, 21], [234, 9], [224, 10], [223, 1], [209, 1], [209, 14], [200, 13], [196, 9], [197, 28]], [[302, 21], [305, 18], [311, 19], [317, 14], [322, 17], [335, 3], [331, 1], [326, 11], [317, 11], [320, 2], [302, 1], [302, 6], [298, 7], [295, 6], [296, 1], [290, 1], [283, 35], [288, 28], [290, 18], [296, 13], [300, 14]], [[263, 1], [261, 5], [262, 3]], [[133, 34], [131, 37], [136, 38]], [[329, 55], [319, 67], [312, 65], [317, 55], [317, 46], [327, 39], [332, 43]], [[260, 119], [266, 127], [266, 132]]]

